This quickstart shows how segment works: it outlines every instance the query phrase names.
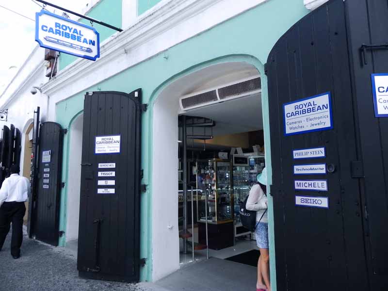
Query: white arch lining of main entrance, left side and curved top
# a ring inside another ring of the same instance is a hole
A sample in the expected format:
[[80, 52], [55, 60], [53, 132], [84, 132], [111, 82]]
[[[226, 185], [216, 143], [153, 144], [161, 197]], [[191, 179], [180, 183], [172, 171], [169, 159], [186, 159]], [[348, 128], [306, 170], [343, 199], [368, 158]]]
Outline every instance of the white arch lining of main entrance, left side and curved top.
[[219, 84], [258, 75], [254, 65], [209, 65], [169, 83], [152, 108], [152, 280], [179, 269], [178, 114], [179, 97]]

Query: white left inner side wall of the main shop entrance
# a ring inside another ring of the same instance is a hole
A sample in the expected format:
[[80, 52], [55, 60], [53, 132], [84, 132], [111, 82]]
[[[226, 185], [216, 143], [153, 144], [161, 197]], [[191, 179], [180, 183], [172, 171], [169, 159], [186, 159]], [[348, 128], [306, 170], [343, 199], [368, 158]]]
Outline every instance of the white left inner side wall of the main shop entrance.
[[[164, 90], [153, 111], [152, 280], [179, 269], [178, 96]], [[172, 226], [172, 228], [171, 228]]]

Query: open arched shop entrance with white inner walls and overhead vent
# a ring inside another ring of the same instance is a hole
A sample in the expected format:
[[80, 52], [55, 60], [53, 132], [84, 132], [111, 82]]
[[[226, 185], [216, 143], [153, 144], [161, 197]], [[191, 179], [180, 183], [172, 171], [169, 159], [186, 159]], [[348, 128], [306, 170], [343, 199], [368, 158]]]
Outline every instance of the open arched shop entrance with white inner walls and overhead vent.
[[[259, 251], [255, 235], [239, 222], [239, 208], [265, 165], [260, 81], [258, 70], [248, 63], [211, 65], [171, 83], [155, 101], [154, 281], [186, 263], [206, 259], [209, 246], [215, 265], [222, 265], [222, 259], [228, 259], [226, 264], [238, 261], [246, 265], [241, 276], [237, 266], [231, 268], [237, 272], [234, 276], [217, 272], [208, 275], [230, 280], [230, 286], [236, 284], [240, 290], [245, 289], [244, 284], [247, 288], [255, 285]], [[209, 176], [214, 177], [207, 177], [211, 173], [206, 171], [213, 171]], [[208, 182], [211, 179], [219, 187], [212, 186]], [[205, 189], [212, 193], [206, 194]], [[246, 255], [251, 251], [255, 254]], [[246, 259], [250, 256], [257, 256], [256, 261]]]

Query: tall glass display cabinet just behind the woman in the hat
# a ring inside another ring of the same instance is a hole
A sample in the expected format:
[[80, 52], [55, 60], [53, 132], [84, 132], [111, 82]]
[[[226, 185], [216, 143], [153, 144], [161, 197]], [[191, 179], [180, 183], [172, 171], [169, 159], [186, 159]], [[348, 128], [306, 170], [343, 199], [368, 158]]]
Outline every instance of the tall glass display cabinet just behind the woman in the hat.
[[257, 183], [256, 176], [265, 167], [265, 158], [264, 155], [244, 154], [233, 155], [232, 161], [234, 237], [239, 237], [251, 234], [248, 229], [242, 226], [239, 213], [250, 189]]

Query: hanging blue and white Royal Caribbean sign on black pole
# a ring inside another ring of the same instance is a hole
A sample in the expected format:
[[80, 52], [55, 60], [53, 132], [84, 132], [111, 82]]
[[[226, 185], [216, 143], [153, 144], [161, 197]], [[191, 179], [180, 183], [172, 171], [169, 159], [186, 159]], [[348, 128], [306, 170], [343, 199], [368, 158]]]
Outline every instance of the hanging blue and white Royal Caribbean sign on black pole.
[[96, 61], [100, 56], [99, 33], [91, 26], [42, 10], [35, 16], [35, 41], [53, 49]]

